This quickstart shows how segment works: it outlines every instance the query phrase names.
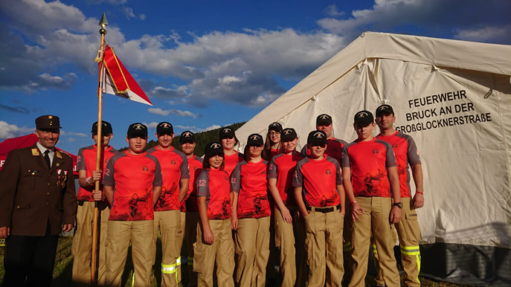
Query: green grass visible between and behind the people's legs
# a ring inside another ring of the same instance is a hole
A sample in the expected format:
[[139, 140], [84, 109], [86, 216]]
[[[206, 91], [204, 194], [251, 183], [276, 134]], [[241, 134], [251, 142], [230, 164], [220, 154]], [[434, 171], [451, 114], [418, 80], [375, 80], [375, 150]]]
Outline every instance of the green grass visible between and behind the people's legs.
[[[71, 254], [71, 245], [73, 243], [73, 237], [72, 236], [60, 236], [59, 244], [57, 247], [57, 256], [55, 258], [55, 269], [53, 271], [53, 286], [69, 286], [71, 285], [71, 275], [73, 272], [73, 255]], [[161, 262], [161, 244], [159, 243], [158, 239], [158, 249], [156, 250], [156, 266], [160, 266], [158, 262]], [[183, 249], [186, 248], [183, 246]], [[0, 247], [0, 284], [2, 284], [4, 279], [4, 247]], [[182, 252], [182, 254], [185, 254]], [[181, 256], [183, 257], [183, 256]], [[182, 281], [187, 282], [188, 281], [188, 272], [186, 269], [186, 265], [183, 265], [183, 272], [182, 273]], [[153, 272], [153, 275], [151, 276], [151, 285], [152, 286], [159, 286], [160, 284], [160, 276], [161, 271], [156, 268], [157, 270]], [[156, 276], [155, 276], [156, 274]], [[123, 285], [125, 287], [131, 286], [131, 276], [133, 275], [133, 264], [131, 261], [131, 248], [128, 251], [128, 257], [126, 260], [126, 267], [124, 269], [124, 275], [123, 275]], [[369, 287], [375, 287], [376, 284], [373, 280], [374, 278], [371, 276], [366, 277], [366, 285]], [[466, 285], [459, 285], [459, 284], [453, 284], [443, 281], [437, 281], [428, 279], [425, 277], [419, 277], [419, 279], [422, 282], [422, 286], [424, 287], [466, 287]], [[183, 286], [186, 286], [183, 284]], [[280, 284], [278, 284], [280, 286]]]

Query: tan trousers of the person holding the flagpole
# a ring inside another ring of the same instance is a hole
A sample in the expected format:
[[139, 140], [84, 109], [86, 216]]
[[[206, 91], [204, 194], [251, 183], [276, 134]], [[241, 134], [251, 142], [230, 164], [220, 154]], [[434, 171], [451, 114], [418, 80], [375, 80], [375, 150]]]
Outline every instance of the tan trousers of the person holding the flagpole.
[[[105, 244], [106, 230], [110, 208], [104, 202], [100, 202], [98, 222], [98, 286], [105, 285]], [[76, 213], [76, 229], [73, 237], [73, 283], [76, 286], [90, 285], [90, 257], [92, 250], [92, 217], [94, 217], [94, 202], [83, 202], [78, 205]]]

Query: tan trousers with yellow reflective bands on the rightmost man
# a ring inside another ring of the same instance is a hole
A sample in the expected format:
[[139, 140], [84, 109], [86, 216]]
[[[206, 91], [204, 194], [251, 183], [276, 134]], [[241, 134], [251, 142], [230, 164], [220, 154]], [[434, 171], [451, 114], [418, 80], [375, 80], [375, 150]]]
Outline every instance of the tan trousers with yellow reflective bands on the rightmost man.
[[[401, 221], [396, 224], [396, 231], [399, 237], [399, 246], [401, 248], [401, 263], [405, 271], [404, 284], [408, 287], [419, 287], [419, 273], [421, 272], [421, 251], [419, 241], [421, 241], [421, 228], [417, 221], [417, 212], [413, 208], [413, 201], [409, 197], [402, 197], [403, 209], [401, 210]], [[395, 235], [394, 235], [395, 238]], [[396, 240], [394, 239], [394, 242]], [[372, 245], [375, 257], [375, 266], [378, 276], [375, 278], [377, 284], [385, 284], [382, 273], [379, 268], [378, 252], [376, 245]]]

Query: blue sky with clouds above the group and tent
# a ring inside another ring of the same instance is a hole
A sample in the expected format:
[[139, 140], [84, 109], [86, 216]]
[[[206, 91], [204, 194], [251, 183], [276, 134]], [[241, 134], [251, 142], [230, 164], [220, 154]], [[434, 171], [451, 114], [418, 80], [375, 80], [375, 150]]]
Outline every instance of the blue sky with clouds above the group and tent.
[[[462, 5], [461, 5], [462, 4]], [[98, 22], [153, 107], [104, 95], [115, 148], [129, 124], [176, 133], [247, 121], [364, 31], [511, 44], [511, 1], [0, 1], [0, 140], [61, 118], [58, 146], [90, 145]]]

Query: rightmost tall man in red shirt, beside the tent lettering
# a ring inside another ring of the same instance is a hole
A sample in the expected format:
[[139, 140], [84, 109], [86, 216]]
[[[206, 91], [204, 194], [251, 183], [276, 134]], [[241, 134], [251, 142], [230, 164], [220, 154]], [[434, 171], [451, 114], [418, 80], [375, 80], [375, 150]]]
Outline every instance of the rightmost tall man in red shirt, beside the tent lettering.
[[[423, 174], [421, 158], [413, 138], [407, 134], [397, 132], [394, 129], [394, 110], [389, 105], [381, 105], [376, 109], [376, 124], [380, 128], [380, 134], [376, 137], [384, 140], [392, 146], [398, 165], [399, 185], [401, 189], [401, 202], [403, 203], [403, 216], [396, 224], [399, 245], [401, 247], [401, 262], [405, 270], [405, 285], [419, 287], [419, 272], [421, 268], [421, 252], [419, 241], [421, 240], [421, 228], [417, 222], [416, 208], [424, 206]], [[415, 195], [411, 200], [410, 173], [411, 166], [413, 181], [415, 182]], [[378, 265], [378, 264], [377, 264]], [[384, 284], [381, 275], [377, 278], [378, 284]]]

